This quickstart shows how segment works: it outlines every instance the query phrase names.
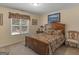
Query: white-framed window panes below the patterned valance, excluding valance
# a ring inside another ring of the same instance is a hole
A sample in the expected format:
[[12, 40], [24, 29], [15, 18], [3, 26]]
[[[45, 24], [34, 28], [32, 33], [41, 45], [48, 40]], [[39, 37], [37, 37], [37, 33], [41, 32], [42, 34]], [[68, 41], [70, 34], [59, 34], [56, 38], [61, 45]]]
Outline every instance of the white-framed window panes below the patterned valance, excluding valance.
[[29, 32], [29, 20], [26, 19], [11, 19], [11, 35], [24, 34]]

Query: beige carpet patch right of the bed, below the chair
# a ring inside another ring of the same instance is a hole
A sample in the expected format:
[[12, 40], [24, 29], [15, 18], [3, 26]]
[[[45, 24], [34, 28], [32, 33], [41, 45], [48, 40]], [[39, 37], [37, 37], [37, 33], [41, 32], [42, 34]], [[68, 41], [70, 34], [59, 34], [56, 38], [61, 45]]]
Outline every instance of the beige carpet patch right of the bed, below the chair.
[[55, 55], [79, 55], [79, 48], [72, 48], [63, 45], [56, 50]]

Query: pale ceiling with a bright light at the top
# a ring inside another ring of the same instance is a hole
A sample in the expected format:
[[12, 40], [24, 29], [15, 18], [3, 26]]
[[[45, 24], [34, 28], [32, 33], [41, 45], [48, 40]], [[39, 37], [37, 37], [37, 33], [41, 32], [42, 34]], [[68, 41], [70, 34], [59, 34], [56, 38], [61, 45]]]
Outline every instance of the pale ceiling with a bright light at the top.
[[78, 3], [39, 3], [34, 6], [33, 3], [0, 3], [1, 6], [23, 10], [32, 14], [41, 15], [61, 9], [67, 9], [78, 6]]

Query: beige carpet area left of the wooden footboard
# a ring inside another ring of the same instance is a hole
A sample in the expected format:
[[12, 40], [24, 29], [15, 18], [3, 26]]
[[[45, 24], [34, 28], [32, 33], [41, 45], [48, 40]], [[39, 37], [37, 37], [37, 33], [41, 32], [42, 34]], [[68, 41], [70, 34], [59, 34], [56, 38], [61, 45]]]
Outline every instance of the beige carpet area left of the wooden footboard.
[[0, 48], [0, 52], [9, 52], [9, 55], [37, 55], [31, 49], [25, 47], [24, 42]]

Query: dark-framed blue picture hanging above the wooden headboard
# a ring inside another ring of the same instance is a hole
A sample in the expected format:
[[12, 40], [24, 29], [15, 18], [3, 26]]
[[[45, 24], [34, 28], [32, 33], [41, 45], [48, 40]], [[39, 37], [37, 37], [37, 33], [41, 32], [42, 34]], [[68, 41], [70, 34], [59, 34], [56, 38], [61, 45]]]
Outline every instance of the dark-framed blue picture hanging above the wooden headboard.
[[60, 13], [48, 15], [48, 23], [60, 22]]

